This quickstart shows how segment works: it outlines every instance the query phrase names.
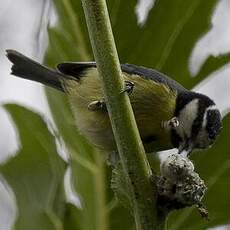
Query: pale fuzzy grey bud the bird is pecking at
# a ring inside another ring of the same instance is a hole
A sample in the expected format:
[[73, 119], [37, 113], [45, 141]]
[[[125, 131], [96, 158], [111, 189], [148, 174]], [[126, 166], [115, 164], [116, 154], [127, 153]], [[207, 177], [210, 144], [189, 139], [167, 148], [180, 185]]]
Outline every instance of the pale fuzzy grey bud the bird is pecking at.
[[201, 203], [206, 191], [204, 181], [194, 172], [193, 163], [179, 154], [161, 164], [158, 178], [158, 202], [169, 210]]

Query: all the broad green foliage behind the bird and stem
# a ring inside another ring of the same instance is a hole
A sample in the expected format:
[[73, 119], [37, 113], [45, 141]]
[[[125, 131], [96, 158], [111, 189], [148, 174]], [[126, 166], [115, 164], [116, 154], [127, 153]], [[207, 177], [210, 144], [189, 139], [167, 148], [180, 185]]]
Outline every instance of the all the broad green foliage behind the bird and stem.
[[[80, 1], [55, 0], [54, 3], [59, 23], [49, 28], [46, 63], [55, 66], [68, 60], [92, 60]], [[191, 78], [189, 56], [196, 41], [210, 29], [210, 17], [217, 0], [156, 0], [142, 27], [134, 14], [136, 0], [108, 0], [107, 3], [122, 63], [156, 68], [192, 88], [229, 62], [229, 54], [210, 56], [197, 76]], [[132, 217], [117, 204], [110, 190], [110, 169], [105, 166], [102, 154], [77, 132], [67, 98], [51, 89], [46, 92], [60, 136], [71, 154], [73, 184], [81, 208], [66, 204], [60, 192], [65, 163], [58, 157], [54, 137], [42, 118], [10, 105], [6, 108], [19, 130], [22, 148], [0, 170], [16, 195], [19, 211], [16, 229], [32, 229], [30, 224], [33, 229], [133, 229]], [[170, 216], [169, 229], [205, 229], [230, 222], [227, 181], [230, 162], [226, 150], [229, 123], [227, 116], [213, 148], [192, 157], [209, 187], [205, 205], [210, 221], [204, 221], [193, 208], [187, 208]]]

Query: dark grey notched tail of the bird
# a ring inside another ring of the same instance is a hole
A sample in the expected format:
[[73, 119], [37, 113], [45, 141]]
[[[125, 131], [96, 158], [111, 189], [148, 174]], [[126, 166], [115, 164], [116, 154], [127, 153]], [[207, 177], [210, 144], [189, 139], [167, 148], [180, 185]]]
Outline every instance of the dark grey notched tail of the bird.
[[70, 76], [49, 69], [15, 50], [6, 50], [6, 53], [8, 59], [13, 63], [11, 74], [64, 91], [61, 79]]

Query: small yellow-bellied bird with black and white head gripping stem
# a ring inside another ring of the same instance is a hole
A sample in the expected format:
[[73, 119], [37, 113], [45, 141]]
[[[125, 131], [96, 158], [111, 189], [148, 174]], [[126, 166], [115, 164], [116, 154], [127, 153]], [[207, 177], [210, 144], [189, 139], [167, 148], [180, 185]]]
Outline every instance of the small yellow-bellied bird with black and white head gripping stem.
[[[116, 150], [95, 62], [66, 62], [54, 70], [15, 50], [6, 52], [13, 75], [66, 93], [79, 131], [96, 146]], [[189, 154], [213, 144], [221, 129], [221, 114], [209, 97], [153, 69], [131, 64], [122, 64], [121, 69], [123, 92], [129, 94], [147, 153], [178, 148], [179, 153]]]

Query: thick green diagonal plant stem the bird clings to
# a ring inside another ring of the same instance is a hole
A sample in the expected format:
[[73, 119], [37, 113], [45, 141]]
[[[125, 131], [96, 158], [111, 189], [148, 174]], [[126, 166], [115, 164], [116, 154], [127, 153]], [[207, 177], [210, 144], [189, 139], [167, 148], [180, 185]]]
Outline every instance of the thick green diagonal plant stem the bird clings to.
[[159, 229], [152, 172], [128, 95], [121, 93], [124, 82], [105, 0], [82, 0], [82, 4], [122, 166], [132, 185], [137, 229]]

